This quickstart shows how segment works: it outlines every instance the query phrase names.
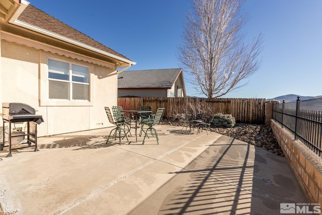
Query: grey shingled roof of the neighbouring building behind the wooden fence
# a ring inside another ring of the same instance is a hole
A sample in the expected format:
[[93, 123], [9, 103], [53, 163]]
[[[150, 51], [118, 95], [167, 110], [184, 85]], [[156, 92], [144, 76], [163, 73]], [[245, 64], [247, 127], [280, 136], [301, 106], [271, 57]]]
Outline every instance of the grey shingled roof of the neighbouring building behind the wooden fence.
[[118, 77], [118, 89], [171, 89], [180, 73], [182, 68], [123, 71]]

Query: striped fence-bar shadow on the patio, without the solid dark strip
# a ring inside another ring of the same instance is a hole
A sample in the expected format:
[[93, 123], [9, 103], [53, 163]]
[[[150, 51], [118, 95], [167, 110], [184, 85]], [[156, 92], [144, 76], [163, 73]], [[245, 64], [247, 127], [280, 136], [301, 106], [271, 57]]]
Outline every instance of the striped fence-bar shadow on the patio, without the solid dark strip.
[[[164, 194], [159, 214], [249, 213], [254, 153], [250, 153], [249, 144], [239, 142], [231, 139], [227, 145], [211, 145], [183, 171], [174, 172], [176, 176], [165, 185], [173, 191]], [[136, 212], [134, 209], [131, 214]]]

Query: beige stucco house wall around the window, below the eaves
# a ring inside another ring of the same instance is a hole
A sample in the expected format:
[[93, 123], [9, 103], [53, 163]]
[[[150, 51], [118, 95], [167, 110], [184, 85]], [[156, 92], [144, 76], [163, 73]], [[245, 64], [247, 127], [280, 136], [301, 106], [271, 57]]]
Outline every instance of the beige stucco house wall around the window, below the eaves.
[[[48, 99], [48, 57], [90, 68], [90, 101]], [[104, 106], [117, 104], [117, 77], [112, 73], [116, 68], [90, 61], [2, 39], [0, 103], [26, 103], [38, 110], [45, 121], [38, 126], [38, 136], [111, 126]]]

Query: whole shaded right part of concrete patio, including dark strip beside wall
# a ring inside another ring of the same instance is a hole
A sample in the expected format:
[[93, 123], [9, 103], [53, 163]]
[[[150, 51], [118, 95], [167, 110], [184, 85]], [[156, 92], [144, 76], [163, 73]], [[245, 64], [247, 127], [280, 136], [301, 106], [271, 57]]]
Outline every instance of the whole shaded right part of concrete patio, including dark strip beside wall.
[[284, 158], [227, 136], [173, 174], [130, 214], [279, 214], [280, 203], [308, 202]]

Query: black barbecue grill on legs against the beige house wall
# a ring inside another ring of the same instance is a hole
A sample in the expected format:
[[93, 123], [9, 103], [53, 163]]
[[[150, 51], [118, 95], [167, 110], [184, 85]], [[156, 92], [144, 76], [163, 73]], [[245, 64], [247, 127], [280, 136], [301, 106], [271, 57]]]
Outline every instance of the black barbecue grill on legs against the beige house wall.
[[[12, 146], [12, 138], [27, 136], [28, 147], [31, 146], [32, 143], [35, 144], [35, 152], [37, 149], [37, 124], [44, 122], [42, 115], [35, 114], [36, 110], [23, 103], [8, 103], [4, 102], [2, 105], [2, 118], [3, 118], [3, 143], [0, 145], [0, 151], [5, 147], [5, 137], [6, 134], [8, 136], [8, 146], [9, 146], [9, 154], [7, 157], [11, 156], [11, 146]], [[27, 122], [27, 132], [25, 134], [12, 135], [12, 123], [22, 123]], [[5, 129], [5, 125], [8, 124], [8, 130]]]

